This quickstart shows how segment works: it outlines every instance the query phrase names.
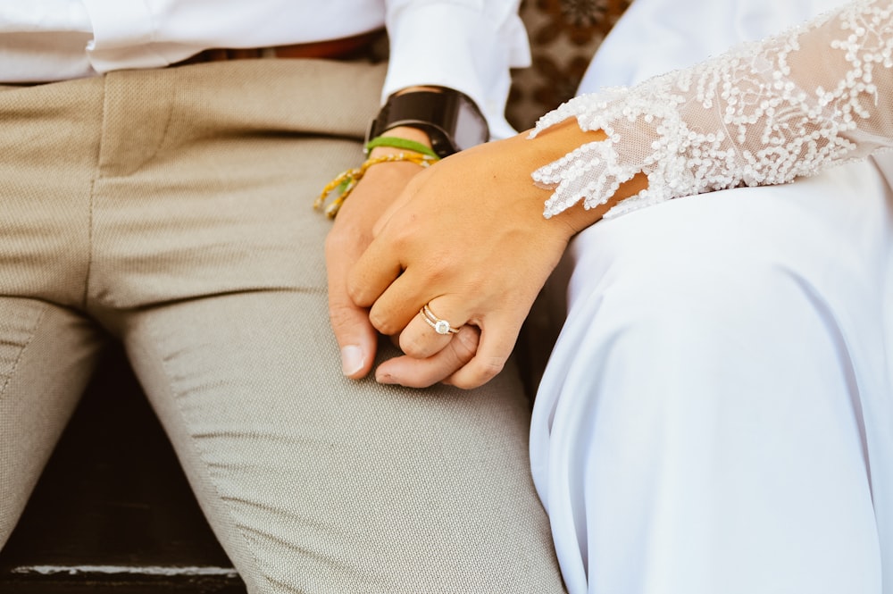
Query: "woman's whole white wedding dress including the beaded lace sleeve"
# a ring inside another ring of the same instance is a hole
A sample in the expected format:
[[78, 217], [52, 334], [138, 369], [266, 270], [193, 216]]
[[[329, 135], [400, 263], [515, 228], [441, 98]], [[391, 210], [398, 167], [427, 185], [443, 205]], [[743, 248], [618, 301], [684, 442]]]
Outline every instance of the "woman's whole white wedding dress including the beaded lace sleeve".
[[572, 594], [893, 594], [891, 11], [635, 0], [580, 93], [647, 82], [541, 122], [610, 138], [536, 172], [547, 215], [649, 177], [547, 288], [530, 456]]

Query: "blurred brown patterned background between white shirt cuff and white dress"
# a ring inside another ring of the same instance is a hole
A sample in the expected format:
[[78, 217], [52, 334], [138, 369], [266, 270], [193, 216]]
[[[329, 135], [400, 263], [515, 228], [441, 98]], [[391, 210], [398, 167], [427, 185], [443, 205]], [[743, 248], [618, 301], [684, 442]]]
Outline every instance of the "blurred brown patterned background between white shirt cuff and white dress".
[[522, 0], [533, 65], [513, 72], [506, 111], [517, 130], [570, 99], [589, 59], [632, 0]]

